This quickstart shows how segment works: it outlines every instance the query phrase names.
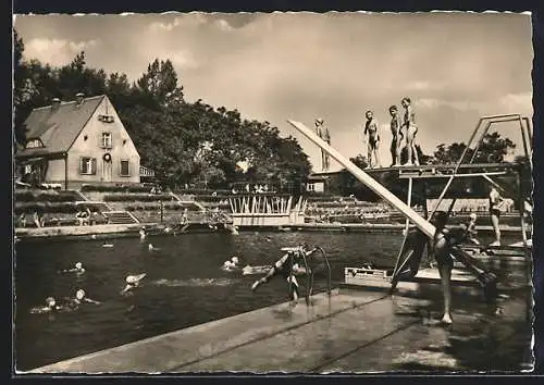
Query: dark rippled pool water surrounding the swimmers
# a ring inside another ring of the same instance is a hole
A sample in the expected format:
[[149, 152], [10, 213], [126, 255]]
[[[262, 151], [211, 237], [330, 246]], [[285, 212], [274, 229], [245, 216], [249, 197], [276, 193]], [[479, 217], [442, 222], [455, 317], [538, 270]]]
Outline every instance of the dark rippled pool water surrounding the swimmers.
[[[321, 245], [332, 265], [333, 282], [344, 266], [369, 261], [393, 265], [399, 234], [242, 233], [187, 234], [149, 239], [152, 253], [136, 238], [109, 241], [20, 243], [16, 249], [16, 360], [28, 370], [59, 360], [111, 348], [145, 337], [235, 315], [287, 300], [284, 280], [273, 280], [255, 294], [256, 276], [224, 272], [237, 256], [243, 265], [271, 264], [284, 246]], [[59, 274], [79, 261], [85, 274]], [[128, 274], [147, 273], [132, 296], [121, 296]], [[305, 280], [300, 282], [305, 284]], [[78, 288], [101, 305], [76, 311], [32, 314], [46, 297], [73, 297]], [[314, 293], [326, 288], [317, 277]]]

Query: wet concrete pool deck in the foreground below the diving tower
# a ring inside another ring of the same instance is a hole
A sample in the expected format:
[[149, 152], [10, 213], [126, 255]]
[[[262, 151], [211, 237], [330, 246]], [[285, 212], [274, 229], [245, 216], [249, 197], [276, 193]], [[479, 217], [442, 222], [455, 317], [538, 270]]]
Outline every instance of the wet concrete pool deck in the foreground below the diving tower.
[[430, 325], [428, 300], [320, 294], [309, 307], [272, 306], [27, 373], [519, 371], [530, 362], [522, 300], [505, 301], [500, 316], [456, 305], [446, 330]]

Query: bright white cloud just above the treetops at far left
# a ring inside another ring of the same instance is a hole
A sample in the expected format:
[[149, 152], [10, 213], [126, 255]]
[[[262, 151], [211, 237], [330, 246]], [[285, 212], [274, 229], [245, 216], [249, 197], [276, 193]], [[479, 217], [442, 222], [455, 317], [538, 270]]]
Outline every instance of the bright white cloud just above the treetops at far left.
[[52, 65], [69, 63], [81, 52], [94, 48], [100, 40], [72, 41], [65, 39], [35, 38], [25, 42], [25, 58], [36, 58]]

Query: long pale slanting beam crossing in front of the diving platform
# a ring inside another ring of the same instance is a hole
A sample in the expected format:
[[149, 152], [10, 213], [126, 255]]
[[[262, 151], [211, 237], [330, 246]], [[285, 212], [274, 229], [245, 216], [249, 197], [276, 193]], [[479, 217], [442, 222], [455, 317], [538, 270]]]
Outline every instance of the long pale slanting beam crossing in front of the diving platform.
[[306, 127], [300, 122], [295, 122], [287, 120], [287, 122], [294, 126], [297, 131], [304, 134], [308, 139], [310, 139], [313, 144], [319, 146], [321, 149], [325, 150], [332, 158], [334, 158], [339, 164], [346, 167], [357, 179], [359, 179], [362, 184], [368, 186], [372, 191], [374, 191], [378, 196], [380, 196], [387, 203], [396, 208], [398, 211], [403, 213], [407, 219], [409, 219], [419, 229], [421, 229], [426, 236], [432, 237], [435, 232], [435, 227], [429, 223], [425, 219], [420, 216], [415, 210], [412, 210], [409, 206], [398, 199], [394, 194], [383, 187], [379, 182], [372, 178], [369, 174], [363, 172], [357, 165], [355, 165], [351, 161], [327, 145], [323, 139], [320, 139], [313, 132], [311, 132], [308, 127]]

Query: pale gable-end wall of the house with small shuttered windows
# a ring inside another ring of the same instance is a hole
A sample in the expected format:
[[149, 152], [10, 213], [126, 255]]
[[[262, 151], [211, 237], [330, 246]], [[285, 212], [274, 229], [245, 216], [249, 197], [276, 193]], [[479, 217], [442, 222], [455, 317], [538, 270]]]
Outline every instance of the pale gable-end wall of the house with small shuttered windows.
[[[112, 123], [104, 123], [99, 115], [113, 116]], [[102, 133], [111, 133], [111, 148], [102, 148]], [[103, 156], [111, 154], [111, 162], [106, 162]], [[96, 159], [96, 174], [81, 173], [81, 158]], [[129, 176], [121, 175], [121, 161], [129, 162]], [[139, 183], [140, 157], [128, 133], [108, 98], [99, 104], [89, 122], [82, 131], [69, 151], [69, 181], [72, 186], [101, 184]]]

